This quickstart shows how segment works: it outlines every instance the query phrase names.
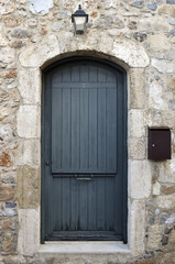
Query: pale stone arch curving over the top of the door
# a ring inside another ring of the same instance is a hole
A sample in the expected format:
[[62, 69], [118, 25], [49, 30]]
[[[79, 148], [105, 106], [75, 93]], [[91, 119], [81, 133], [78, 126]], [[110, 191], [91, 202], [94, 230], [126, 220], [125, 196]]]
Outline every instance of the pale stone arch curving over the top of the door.
[[58, 36], [51, 34], [42, 40], [41, 45], [33, 44], [24, 48], [19, 61], [23, 67], [44, 68], [62, 57], [85, 53], [105, 58], [110, 56], [110, 59], [125, 68], [143, 68], [150, 63], [143, 46], [136, 42], [125, 38], [113, 41], [105, 33], [95, 36], [88, 34], [83, 36], [81, 42], [73, 33], [61, 33]]

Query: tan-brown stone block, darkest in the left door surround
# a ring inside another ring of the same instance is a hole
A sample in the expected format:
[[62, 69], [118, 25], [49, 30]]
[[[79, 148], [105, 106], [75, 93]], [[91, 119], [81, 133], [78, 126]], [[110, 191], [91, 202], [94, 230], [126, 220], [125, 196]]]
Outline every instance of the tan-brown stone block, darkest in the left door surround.
[[18, 205], [29, 209], [39, 206], [39, 170], [33, 167], [18, 169]]

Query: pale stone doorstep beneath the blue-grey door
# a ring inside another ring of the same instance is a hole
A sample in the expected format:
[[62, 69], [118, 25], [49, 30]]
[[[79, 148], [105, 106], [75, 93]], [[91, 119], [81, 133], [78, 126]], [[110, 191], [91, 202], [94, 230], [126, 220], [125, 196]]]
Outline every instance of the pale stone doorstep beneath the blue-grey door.
[[102, 254], [131, 254], [131, 250], [128, 244], [122, 242], [45, 242], [40, 245], [39, 253], [56, 253], [56, 254], [77, 254], [77, 253], [102, 253]]

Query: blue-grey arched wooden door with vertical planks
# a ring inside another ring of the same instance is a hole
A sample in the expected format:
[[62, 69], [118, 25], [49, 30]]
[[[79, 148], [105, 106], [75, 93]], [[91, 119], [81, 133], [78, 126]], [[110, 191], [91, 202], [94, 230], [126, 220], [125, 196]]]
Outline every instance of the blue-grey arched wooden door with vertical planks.
[[42, 242], [127, 241], [124, 70], [76, 57], [44, 73]]

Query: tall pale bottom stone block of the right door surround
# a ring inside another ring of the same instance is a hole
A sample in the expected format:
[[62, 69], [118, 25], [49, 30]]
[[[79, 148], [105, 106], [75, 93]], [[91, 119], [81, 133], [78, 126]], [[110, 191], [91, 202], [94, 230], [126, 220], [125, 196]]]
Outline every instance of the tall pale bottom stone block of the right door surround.
[[131, 249], [134, 256], [141, 255], [144, 252], [145, 238], [145, 202], [133, 200], [130, 205], [129, 221], [131, 227], [129, 233], [131, 235]]

